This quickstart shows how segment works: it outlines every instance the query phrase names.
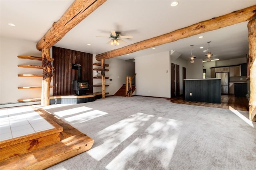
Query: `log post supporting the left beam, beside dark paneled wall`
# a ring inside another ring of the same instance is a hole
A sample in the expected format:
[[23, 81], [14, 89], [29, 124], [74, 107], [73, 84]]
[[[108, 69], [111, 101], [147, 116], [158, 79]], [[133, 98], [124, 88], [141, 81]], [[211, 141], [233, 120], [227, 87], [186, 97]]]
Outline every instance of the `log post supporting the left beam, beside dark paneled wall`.
[[41, 92], [41, 105], [50, 105], [50, 83], [52, 78], [52, 62], [50, 59], [50, 49], [42, 48], [42, 92]]

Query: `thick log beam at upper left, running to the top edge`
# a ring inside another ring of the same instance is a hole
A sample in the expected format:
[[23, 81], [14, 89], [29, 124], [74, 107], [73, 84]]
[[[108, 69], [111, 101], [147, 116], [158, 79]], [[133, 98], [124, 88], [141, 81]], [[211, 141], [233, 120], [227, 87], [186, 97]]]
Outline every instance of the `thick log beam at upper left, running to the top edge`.
[[46, 32], [44, 37], [38, 41], [36, 48], [41, 51], [42, 48], [50, 49], [56, 44], [68, 31], [80, 23], [84, 18], [96, 10], [106, 0], [75, 0], [66, 10], [62, 17]]

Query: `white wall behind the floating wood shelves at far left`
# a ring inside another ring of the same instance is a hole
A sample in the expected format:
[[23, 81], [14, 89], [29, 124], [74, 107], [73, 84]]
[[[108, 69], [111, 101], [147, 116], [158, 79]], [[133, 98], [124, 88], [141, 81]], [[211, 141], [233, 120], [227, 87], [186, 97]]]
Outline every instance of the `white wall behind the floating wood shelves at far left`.
[[[19, 64], [42, 65], [41, 61], [18, 59], [18, 55], [42, 57], [36, 43], [0, 37], [0, 103], [18, 102], [18, 99], [40, 98], [41, 88], [19, 90], [18, 86], [42, 86], [42, 78], [18, 77], [18, 74], [42, 74], [42, 69], [20, 68]], [[52, 94], [52, 90], [50, 91]]]

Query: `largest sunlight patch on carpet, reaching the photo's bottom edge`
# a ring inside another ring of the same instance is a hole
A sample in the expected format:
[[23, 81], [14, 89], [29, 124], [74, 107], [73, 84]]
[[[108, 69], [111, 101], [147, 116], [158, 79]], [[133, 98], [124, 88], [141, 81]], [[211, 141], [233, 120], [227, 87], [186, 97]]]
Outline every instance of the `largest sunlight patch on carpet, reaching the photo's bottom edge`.
[[181, 126], [180, 121], [158, 117], [106, 169], [168, 169]]

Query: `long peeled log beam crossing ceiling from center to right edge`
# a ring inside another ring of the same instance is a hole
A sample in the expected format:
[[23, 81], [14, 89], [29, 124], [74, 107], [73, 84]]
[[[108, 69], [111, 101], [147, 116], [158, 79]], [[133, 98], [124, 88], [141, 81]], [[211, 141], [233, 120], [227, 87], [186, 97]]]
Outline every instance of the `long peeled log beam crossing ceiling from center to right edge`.
[[185, 28], [177, 29], [170, 33], [153, 37], [126, 47], [108, 51], [106, 53], [96, 55], [96, 60], [100, 61], [101, 59], [110, 59], [120, 55], [125, 55], [128, 53], [134, 53], [136, 51], [148, 49], [158, 45], [163, 45], [166, 43], [171, 43], [179, 39], [190, 37], [192, 35], [197, 35], [207, 31], [212, 31], [220, 29], [222, 27], [227, 27], [234, 25], [236, 23], [241, 23], [244, 21], [250, 20], [250, 18], [256, 13], [256, 5], [244, 8], [242, 10], [234, 11], [230, 14], [212, 18], [210, 20], [202, 21], [194, 25], [190, 25]]

